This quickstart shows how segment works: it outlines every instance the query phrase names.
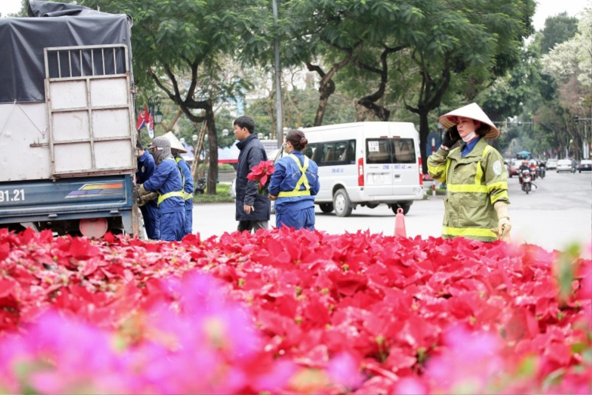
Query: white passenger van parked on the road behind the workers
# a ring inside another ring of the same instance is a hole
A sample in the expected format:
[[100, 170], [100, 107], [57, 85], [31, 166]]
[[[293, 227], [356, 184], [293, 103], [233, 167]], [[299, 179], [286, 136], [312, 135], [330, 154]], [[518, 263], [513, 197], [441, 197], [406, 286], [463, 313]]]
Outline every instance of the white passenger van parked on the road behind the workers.
[[356, 205], [388, 204], [407, 214], [423, 198], [419, 133], [408, 122], [358, 122], [303, 129], [304, 155], [318, 165], [323, 213], [347, 217]]

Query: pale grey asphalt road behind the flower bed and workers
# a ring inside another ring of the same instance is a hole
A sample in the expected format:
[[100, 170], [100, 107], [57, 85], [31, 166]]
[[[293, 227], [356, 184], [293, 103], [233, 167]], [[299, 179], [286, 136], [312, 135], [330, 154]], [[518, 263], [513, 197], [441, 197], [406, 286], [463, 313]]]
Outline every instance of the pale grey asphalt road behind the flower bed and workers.
[[[578, 242], [583, 245], [583, 256], [592, 255], [592, 173], [548, 171], [545, 179], [535, 181], [538, 188], [528, 195], [520, 190], [516, 176], [508, 183], [511, 236], [515, 242], [540, 245], [549, 251], [563, 250]], [[193, 212], [194, 233], [200, 233], [202, 238], [236, 230], [234, 204], [200, 204], [194, 206]], [[440, 196], [415, 201], [405, 216], [407, 236], [440, 236], [443, 213]], [[274, 215], [270, 225], [275, 225]], [[395, 215], [386, 205], [358, 206], [350, 217], [324, 214], [316, 206], [316, 228], [329, 233], [370, 230], [392, 235], [394, 226]]]

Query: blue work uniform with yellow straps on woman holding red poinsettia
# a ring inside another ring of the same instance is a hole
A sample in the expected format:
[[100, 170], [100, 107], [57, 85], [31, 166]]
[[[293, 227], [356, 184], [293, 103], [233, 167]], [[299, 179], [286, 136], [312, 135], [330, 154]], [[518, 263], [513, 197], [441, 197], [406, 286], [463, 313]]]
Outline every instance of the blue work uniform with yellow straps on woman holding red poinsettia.
[[314, 229], [314, 195], [318, 193], [318, 166], [302, 152], [293, 150], [275, 163], [268, 191], [277, 195], [275, 226]]

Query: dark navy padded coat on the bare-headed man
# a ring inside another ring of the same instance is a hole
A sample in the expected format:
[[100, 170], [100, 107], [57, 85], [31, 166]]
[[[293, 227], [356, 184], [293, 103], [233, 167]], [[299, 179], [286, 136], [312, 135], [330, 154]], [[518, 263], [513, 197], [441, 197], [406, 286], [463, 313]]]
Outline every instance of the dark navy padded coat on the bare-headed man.
[[[247, 174], [253, 166], [267, 160], [263, 144], [255, 133], [236, 144], [240, 149], [239, 163], [236, 168], [236, 220], [237, 221], [269, 221], [271, 202], [268, 195], [259, 195], [257, 185], [249, 181]], [[255, 212], [247, 214], [243, 205], [252, 205]]]

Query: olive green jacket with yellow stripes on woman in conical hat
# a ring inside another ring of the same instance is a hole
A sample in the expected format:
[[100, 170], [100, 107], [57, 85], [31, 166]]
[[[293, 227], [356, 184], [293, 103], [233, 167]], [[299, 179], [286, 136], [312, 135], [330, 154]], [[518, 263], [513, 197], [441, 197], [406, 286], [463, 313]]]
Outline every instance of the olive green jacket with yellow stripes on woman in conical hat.
[[491, 232], [497, 228], [493, 204], [510, 203], [504, 159], [485, 139], [480, 139], [464, 158], [461, 149], [440, 149], [427, 158], [427, 172], [437, 181], [446, 182], [448, 191], [442, 237], [497, 240]]

